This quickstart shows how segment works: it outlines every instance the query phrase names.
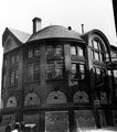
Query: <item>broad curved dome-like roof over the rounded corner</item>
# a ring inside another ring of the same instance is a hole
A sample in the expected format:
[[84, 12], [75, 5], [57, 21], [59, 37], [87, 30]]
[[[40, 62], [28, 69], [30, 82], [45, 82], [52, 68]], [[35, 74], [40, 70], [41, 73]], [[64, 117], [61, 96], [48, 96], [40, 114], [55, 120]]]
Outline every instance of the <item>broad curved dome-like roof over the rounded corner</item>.
[[51, 25], [32, 34], [28, 42], [43, 40], [43, 38], [74, 38], [74, 40], [83, 41], [78, 32], [68, 30], [61, 25]]

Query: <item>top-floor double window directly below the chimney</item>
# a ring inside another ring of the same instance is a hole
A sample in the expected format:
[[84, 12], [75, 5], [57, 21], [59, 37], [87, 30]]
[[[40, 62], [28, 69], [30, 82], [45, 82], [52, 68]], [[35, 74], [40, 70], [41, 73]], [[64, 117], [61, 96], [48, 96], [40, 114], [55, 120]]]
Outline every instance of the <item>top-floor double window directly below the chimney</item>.
[[39, 47], [30, 47], [28, 50], [28, 58], [36, 58], [40, 56], [40, 48]]

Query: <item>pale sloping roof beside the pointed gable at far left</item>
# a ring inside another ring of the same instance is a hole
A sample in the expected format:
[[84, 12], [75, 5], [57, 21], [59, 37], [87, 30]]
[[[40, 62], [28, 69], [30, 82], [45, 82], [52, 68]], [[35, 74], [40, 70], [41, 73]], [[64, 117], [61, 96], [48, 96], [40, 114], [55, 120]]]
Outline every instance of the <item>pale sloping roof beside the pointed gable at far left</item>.
[[31, 36], [30, 34], [22, 32], [22, 31], [18, 31], [11, 28], [8, 28], [8, 29], [21, 43], [25, 43]]

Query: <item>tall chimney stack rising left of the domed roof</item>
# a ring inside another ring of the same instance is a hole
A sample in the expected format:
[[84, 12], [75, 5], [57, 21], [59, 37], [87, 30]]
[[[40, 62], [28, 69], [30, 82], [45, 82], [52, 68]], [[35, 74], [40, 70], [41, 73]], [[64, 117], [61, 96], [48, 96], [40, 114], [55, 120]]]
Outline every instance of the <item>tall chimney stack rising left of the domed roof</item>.
[[36, 33], [38, 31], [41, 30], [41, 21], [42, 20], [40, 18], [34, 18], [32, 20], [32, 22], [33, 22], [33, 33]]

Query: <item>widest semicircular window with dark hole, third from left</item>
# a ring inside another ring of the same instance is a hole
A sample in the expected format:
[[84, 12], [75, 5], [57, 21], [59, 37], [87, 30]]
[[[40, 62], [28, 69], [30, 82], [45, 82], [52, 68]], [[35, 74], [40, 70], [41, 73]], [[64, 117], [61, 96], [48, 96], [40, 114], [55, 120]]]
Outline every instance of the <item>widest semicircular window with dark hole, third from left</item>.
[[62, 91], [52, 91], [47, 96], [47, 103], [66, 103], [66, 96]]

